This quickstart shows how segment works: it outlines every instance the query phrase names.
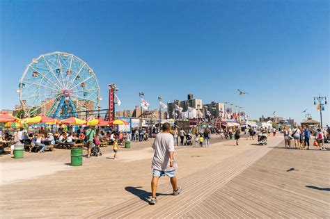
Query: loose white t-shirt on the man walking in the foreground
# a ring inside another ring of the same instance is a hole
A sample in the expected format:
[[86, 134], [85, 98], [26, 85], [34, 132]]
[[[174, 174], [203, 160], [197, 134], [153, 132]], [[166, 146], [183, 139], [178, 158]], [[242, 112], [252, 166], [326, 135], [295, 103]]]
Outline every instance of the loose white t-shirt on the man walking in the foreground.
[[152, 159], [152, 169], [171, 171], [178, 168], [178, 164], [173, 157], [173, 167], [170, 167], [170, 155], [169, 152], [174, 152], [174, 139], [171, 133], [160, 132], [157, 134], [152, 148], [155, 150], [154, 157]]

